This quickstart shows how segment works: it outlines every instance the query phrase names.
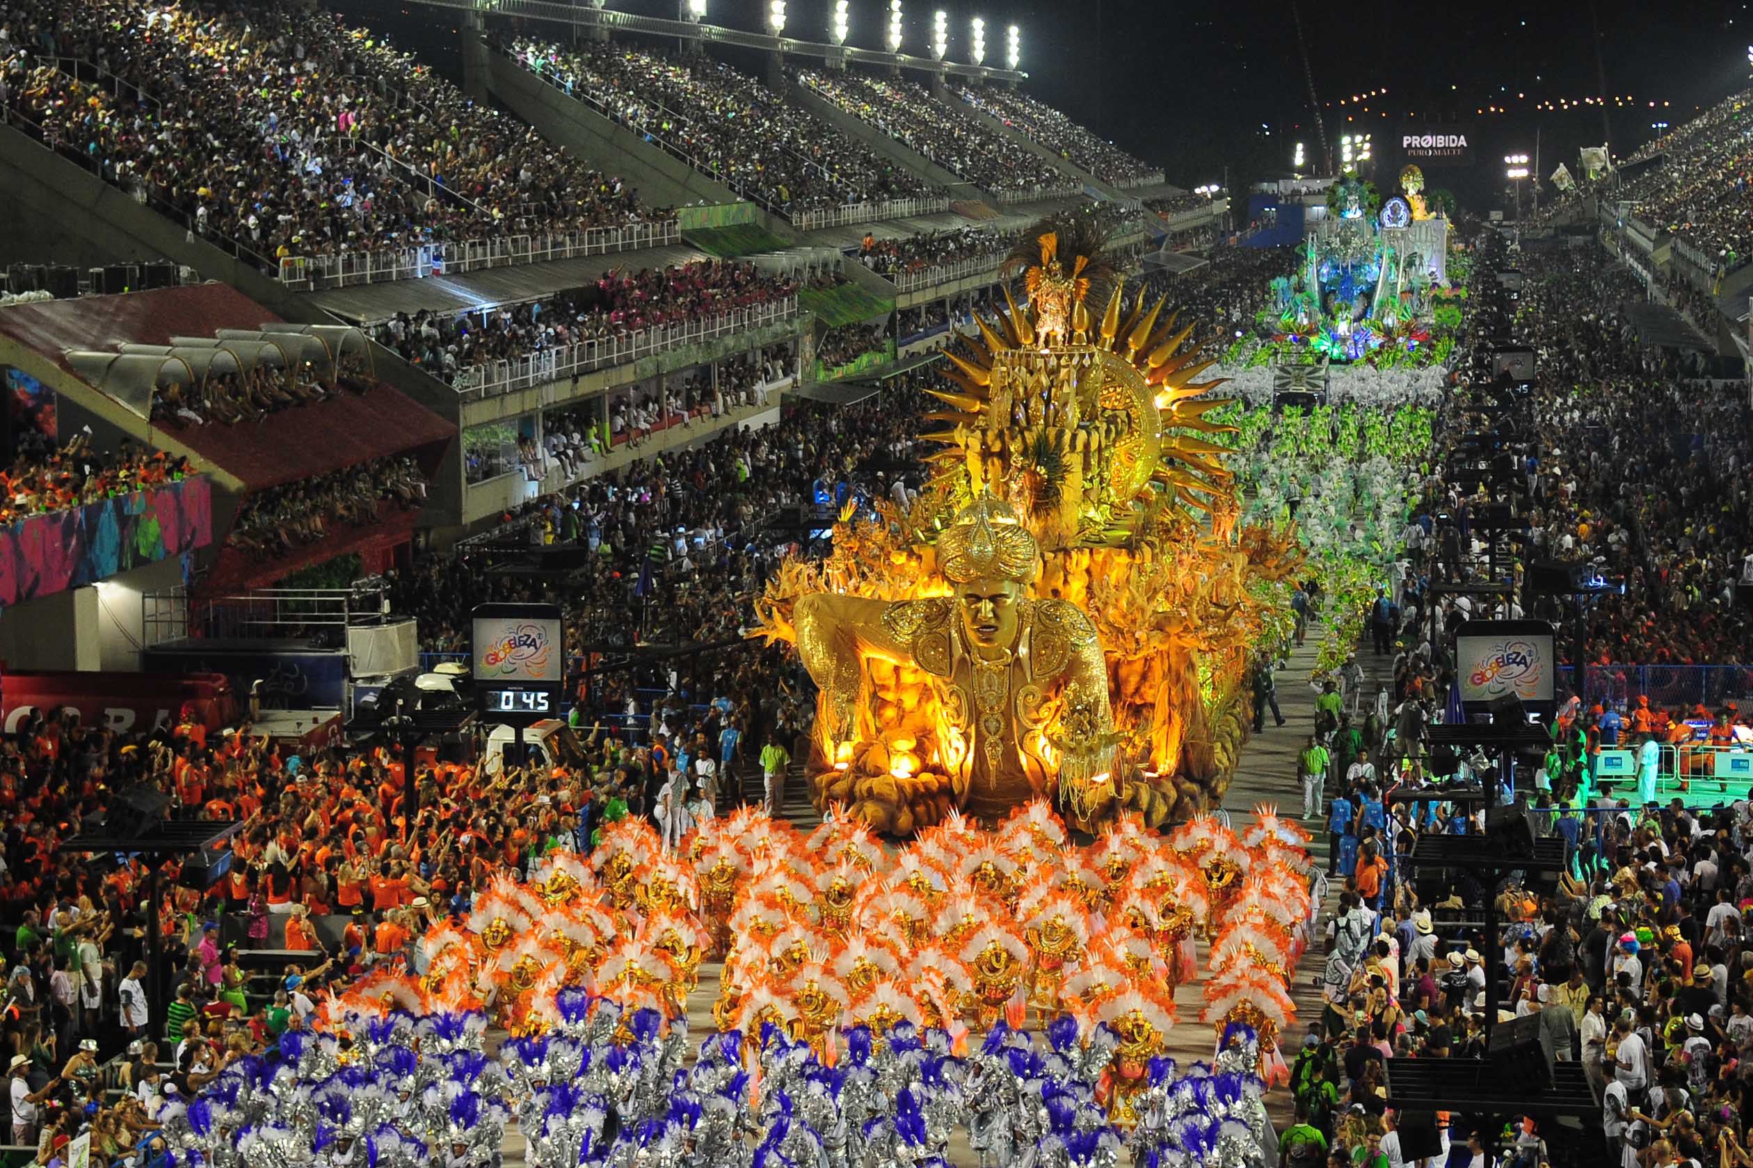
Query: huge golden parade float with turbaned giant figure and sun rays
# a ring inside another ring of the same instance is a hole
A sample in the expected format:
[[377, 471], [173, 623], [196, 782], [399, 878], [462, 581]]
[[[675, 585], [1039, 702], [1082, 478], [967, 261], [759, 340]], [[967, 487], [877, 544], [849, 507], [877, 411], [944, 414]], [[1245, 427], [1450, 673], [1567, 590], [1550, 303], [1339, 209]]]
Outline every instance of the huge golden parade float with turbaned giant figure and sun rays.
[[1287, 620], [1290, 532], [1238, 531], [1190, 326], [1143, 292], [1125, 310], [1087, 221], [1011, 259], [1031, 303], [1006, 289], [948, 354], [912, 510], [848, 511], [757, 606], [820, 688], [817, 806], [896, 835], [1036, 795], [1085, 828], [1203, 809], [1245, 737], [1248, 646]]

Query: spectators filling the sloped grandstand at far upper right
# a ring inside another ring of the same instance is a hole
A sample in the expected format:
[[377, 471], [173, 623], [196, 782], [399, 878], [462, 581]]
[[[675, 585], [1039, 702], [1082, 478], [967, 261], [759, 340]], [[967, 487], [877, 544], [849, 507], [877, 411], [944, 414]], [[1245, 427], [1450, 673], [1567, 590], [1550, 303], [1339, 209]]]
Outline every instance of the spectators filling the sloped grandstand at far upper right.
[[1611, 194], [1658, 231], [1672, 231], [1716, 270], [1753, 254], [1749, 93], [1737, 93], [1648, 144], [1622, 170], [1655, 159]]

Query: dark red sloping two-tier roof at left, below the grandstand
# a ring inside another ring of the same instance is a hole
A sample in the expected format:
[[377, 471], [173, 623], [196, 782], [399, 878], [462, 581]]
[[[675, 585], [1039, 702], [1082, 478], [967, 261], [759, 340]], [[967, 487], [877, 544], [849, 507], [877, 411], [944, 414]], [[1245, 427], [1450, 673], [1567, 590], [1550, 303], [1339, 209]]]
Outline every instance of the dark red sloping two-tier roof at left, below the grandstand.
[[[219, 329], [259, 329], [279, 322], [256, 301], [224, 284], [84, 296], [0, 308], [0, 336], [37, 350], [77, 376], [67, 350], [116, 350], [123, 343], [168, 345], [174, 336], [214, 336]], [[93, 392], [102, 392], [93, 389]], [[433, 475], [456, 426], [407, 394], [379, 383], [366, 394], [342, 392], [310, 406], [272, 413], [261, 424], [158, 427], [140, 420], [142, 438], [174, 438], [202, 461], [263, 490], [410, 454]], [[156, 445], [156, 443], [154, 443]]]

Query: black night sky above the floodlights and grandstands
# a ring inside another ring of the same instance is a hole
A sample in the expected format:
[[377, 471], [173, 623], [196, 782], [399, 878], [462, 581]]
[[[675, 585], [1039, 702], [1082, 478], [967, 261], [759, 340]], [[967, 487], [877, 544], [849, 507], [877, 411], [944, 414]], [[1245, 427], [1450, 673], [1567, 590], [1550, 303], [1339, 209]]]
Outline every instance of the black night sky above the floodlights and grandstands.
[[[677, 12], [675, 0], [610, 2], [649, 16]], [[368, 7], [384, 12], [382, 0]], [[440, 21], [449, 14], [400, 7], [415, 19], [391, 28], [396, 40], [445, 56], [440, 49], [449, 46], [433, 39], [447, 32]], [[1027, 93], [1160, 165], [1182, 186], [1222, 182], [1225, 166], [1232, 187], [1285, 177], [1299, 140], [1311, 159], [1318, 154], [1288, 2], [905, 0], [903, 51], [927, 54], [931, 12], [940, 7], [950, 14], [950, 60], [966, 60], [969, 18], [987, 21], [989, 65], [1003, 63], [1003, 28], [1018, 25]], [[789, 0], [787, 35], [827, 40], [831, 9], [831, 0]], [[706, 19], [759, 30], [764, 11], [766, 0], [708, 0]], [[1427, 179], [1476, 210], [1497, 205], [1502, 156], [1534, 154], [1536, 131], [1541, 175], [1560, 161], [1574, 172], [1579, 145], [1599, 145], [1611, 133], [1615, 152], [1629, 154], [1655, 133], [1651, 123], [1678, 124], [1749, 84], [1753, 9], [1741, 0], [1658, 7], [1302, 0], [1299, 11], [1334, 154], [1341, 133], [1364, 126], [1378, 144], [1394, 145], [1425, 123], [1458, 126], [1474, 144], [1473, 166], [1429, 168]], [[882, 47], [885, 23], [887, 0], [852, 0], [850, 44]], [[1373, 89], [1378, 96], [1369, 98]], [[1604, 109], [1585, 102], [1597, 96], [1606, 96]], [[1555, 109], [1544, 109], [1548, 102]], [[1390, 149], [1376, 152], [1392, 158]], [[1392, 175], [1378, 180], [1387, 186]]]

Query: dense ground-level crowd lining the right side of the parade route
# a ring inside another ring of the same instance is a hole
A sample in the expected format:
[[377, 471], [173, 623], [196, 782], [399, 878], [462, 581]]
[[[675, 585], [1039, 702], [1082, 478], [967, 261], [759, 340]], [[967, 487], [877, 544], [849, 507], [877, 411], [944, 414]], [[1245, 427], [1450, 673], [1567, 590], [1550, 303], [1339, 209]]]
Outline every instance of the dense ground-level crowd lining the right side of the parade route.
[[[1583, 636], [1592, 655], [1676, 660], [1662, 653], [1709, 653], [1718, 641], [1725, 653], [1741, 651], [1732, 634], [1739, 623], [1709, 594], [1739, 567], [1718, 539], [1739, 546], [1730, 511], [1739, 506], [1734, 459], [1744, 441], [1744, 399], [1683, 383], [1671, 354], [1639, 347], [1623, 319], [1637, 289], [1606, 256], [1481, 252], [1476, 270], [1501, 263], [1518, 263], [1527, 284], [1511, 301], [1495, 280], [1474, 280], [1473, 352], [1462, 376], [1490, 382], [1474, 375], [1490, 368], [1506, 331], [1537, 347], [1536, 385], [1509, 417], [1525, 450], [1515, 475], [1525, 490], [1513, 482], [1481, 497], [1478, 483], [1457, 487], [1455, 468], [1467, 462], [1444, 450], [1504, 415], [1481, 412], [1485, 391], [1450, 394], [1437, 420], [1439, 457], [1408, 525], [1408, 560], [1392, 592], [1369, 602], [1380, 681], [1366, 683], [1353, 657], [1318, 685], [1315, 734], [1299, 755], [1304, 818], [1327, 835], [1329, 874], [1343, 893], [1325, 937], [1324, 1012], [1309, 1021], [1290, 1072], [1297, 1124], [1283, 1133], [1281, 1163], [1324, 1164], [1329, 1152], [1355, 1163], [1355, 1149], [1364, 1149], [1364, 1163], [1406, 1161], [1385, 1061], [1483, 1058], [1495, 1009], [1497, 1024], [1537, 1016], [1557, 1058], [1581, 1063], [1602, 1100], [1604, 1163], [1741, 1164], [1753, 1107], [1753, 1075], [1742, 1070], [1753, 1066], [1753, 949], [1744, 944], [1753, 925], [1753, 809], [1746, 800], [1714, 811], [1688, 811], [1679, 799], [1662, 806], [1655, 774], [1662, 744], [1686, 756], [1695, 739], [1688, 721], [1711, 723], [1707, 742], [1728, 744], [1753, 739], [1746, 714], [1732, 704], [1671, 707], [1648, 695], [1622, 707], [1615, 693], [1592, 695], [1585, 707], [1560, 685], [1544, 758], [1516, 765], [1536, 830], [1564, 844], [1557, 886], [1511, 879], [1492, 888], [1411, 862], [1425, 834], [1485, 827], [1481, 804], [1425, 785], [1511, 793], [1495, 758], [1439, 756], [1427, 734], [1450, 714], [1448, 632], [1469, 616], [1525, 615], [1516, 599], [1432, 597], [1432, 580], [1481, 578], [1483, 545], [1466, 531], [1471, 506], [1525, 496], [1532, 529], [1513, 559], [1579, 557], [1609, 578], [1625, 573], [1625, 597], [1590, 613]], [[1502, 387], [1494, 392], [1501, 399]], [[1299, 590], [1294, 606], [1318, 601]], [[1529, 615], [1569, 623], [1558, 641], [1574, 643], [1574, 615]], [[1271, 695], [1269, 662], [1257, 667], [1257, 693], [1260, 676]], [[1602, 781], [1602, 748], [1636, 751], [1636, 790]], [[1429, 799], [1416, 797], [1420, 786]], [[1501, 935], [1478, 926], [1485, 900], [1508, 923]], [[1483, 1159], [1485, 1133], [1467, 1133], [1455, 1119], [1453, 1129], [1439, 1128], [1443, 1156], [1450, 1136], [1457, 1150], [1466, 1138], [1476, 1164], [1539, 1164], [1548, 1142], [1572, 1138], [1544, 1121], [1518, 1124], [1499, 1142], [1504, 1159]]]

